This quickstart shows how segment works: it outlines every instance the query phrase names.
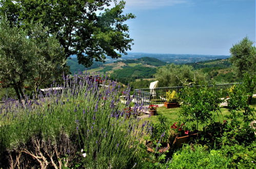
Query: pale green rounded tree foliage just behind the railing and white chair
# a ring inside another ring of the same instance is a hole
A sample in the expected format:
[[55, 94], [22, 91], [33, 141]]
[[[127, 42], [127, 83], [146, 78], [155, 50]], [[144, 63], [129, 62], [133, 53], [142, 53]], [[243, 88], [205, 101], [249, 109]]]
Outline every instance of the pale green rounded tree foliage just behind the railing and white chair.
[[193, 70], [192, 66], [170, 64], [157, 69], [155, 77], [160, 87], [183, 86], [188, 83], [205, 82], [205, 75]]

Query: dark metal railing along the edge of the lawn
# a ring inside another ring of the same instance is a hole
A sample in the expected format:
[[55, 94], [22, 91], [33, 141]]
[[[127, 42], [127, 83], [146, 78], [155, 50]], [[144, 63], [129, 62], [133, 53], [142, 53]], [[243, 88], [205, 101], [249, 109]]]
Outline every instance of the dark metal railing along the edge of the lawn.
[[[231, 88], [233, 85], [239, 85], [242, 83], [228, 83], [220, 85], [207, 85], [207, 87], [214, 88], [215, 90], [225, 90]], [[194, 87], [194, 86], [189, 86]], [[204, 86], [196, 86], [198, 88]], [[163, 87], [154, 89], [135, 89], [134, 100], [136, 104], [150, 105], [150, 104], [163, 104], [166, 101], [166, 92], [176, 91], [179, 92], [183, 87]]]

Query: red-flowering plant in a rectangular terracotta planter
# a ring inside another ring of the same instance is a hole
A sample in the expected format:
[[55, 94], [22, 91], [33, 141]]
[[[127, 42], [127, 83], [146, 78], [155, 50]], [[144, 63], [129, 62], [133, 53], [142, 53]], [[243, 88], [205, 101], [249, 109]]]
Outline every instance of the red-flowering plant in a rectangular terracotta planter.
[[188, 143], [191, 139], [196, 137], [198, 134], [187, 130], [184, 123], [175, 122], [171, 125], [171, 135], [169, 142], [172, 147], [181, 147], [182, 144]]

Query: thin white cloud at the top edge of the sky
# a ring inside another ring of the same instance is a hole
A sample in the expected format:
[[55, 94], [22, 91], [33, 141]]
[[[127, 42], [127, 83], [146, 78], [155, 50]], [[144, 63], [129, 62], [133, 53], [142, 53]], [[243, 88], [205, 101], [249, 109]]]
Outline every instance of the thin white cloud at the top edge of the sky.
[[187, 4], [187, 0], [126, 0], [128, 9], [156, 9], [177, 4]]

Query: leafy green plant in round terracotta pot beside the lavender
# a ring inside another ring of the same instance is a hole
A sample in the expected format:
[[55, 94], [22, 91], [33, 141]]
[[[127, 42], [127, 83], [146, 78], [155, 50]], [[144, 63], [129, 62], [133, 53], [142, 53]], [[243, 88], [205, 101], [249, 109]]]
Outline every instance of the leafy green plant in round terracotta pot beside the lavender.
[[152, 125], [150, 140], [146, 139], [146, 146], [148, 152], [164, 153], [170, 149], [167, 119], [163, 115], [160, 115], [158, 118], [160, 124]]

